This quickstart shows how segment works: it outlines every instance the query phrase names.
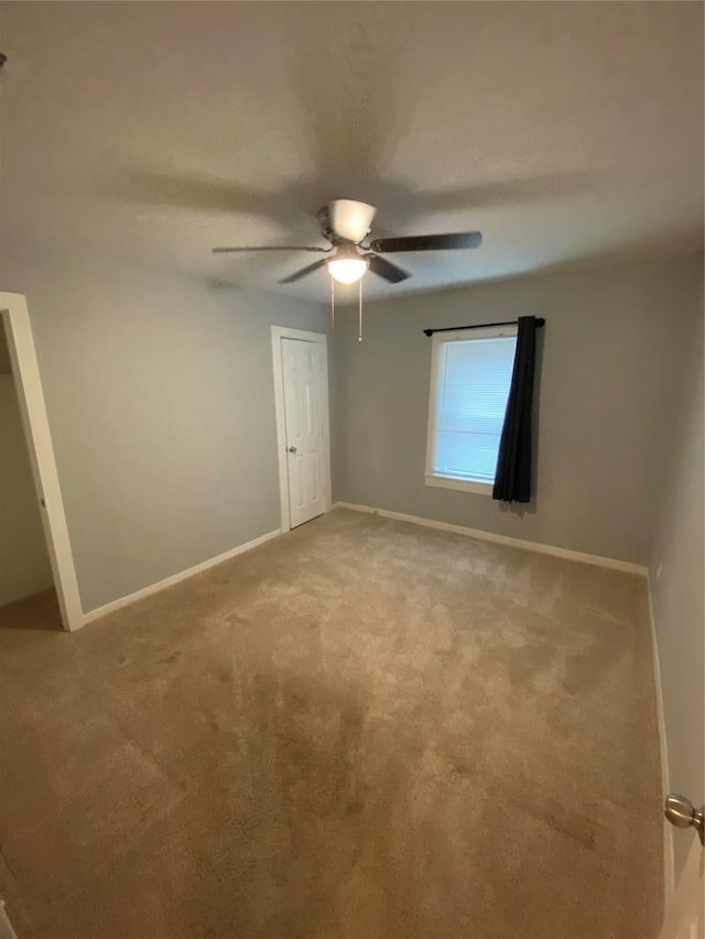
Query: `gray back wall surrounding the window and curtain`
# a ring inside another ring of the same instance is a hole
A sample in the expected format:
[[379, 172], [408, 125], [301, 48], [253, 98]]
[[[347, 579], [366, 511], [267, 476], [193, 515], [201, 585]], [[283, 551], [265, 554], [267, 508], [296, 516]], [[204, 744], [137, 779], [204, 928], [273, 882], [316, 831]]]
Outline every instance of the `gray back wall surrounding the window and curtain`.
[[[648, 564], [702, 261], [622, 263], [370, 303], [336, 316], [338, 500]], [[424, 485], [424, 327], [546, 317], [538, 481], [523, 510]]]

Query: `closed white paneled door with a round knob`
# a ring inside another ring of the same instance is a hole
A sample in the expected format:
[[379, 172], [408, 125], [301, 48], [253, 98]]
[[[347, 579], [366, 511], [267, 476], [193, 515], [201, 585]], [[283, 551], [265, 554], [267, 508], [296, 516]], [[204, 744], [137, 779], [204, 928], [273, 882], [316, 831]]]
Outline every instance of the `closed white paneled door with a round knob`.
[[282, 338], [282, 380], [286, 428], [290, 526], [303, 525], [326, 510], [321, 345]]

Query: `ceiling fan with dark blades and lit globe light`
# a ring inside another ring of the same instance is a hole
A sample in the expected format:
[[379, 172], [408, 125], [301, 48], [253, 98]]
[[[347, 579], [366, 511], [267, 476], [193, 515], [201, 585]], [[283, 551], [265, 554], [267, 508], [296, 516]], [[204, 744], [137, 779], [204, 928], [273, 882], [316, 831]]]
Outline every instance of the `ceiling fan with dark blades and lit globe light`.
[[448, 251], [479, 248], [482, 236], [479, 231], [465, 231], [452, 234], [414, 234], [402, 238], [377, 238], [364, 243], [370, 233], [370, 226], [377, 209], [367, 203], [355, 199], [334, 199], [318, 211], [321, 233], [329, 242], [327, 248], [315, 245], [271, 245], [243, 248], [214, 248], [214, 254], [239, 253], [242, 251], [310, 251], [328, 256], [302, 267], [280, 284], [293, 284], [323, 266], [328, 267], [330, 276], [341, 284], [355, 284], [370, 270], [373, 274], [399, 284], [411, 274], [383, 258], [403, 251]]

